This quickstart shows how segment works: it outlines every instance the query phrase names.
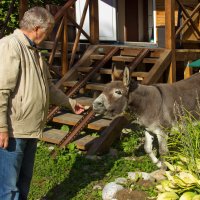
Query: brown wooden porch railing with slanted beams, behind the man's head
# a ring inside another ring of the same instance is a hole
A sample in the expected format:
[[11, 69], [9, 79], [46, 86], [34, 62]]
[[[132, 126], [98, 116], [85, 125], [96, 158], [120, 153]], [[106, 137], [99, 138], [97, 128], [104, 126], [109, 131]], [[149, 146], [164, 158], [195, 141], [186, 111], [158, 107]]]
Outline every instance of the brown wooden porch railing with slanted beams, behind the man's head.
[[[94, 30], [93, 32], [90, 33], [90, 36], [83, 30], [83, 24], [86, 18], [86, 13], [88, 11], [89, 6], [91, 7], [90, 11], [94, 10], [94, 7], [98, 7], [98, 1], [97, 0], [86, 0], [85, 1], [85, 6], [83, 9], [83, 13], [81, 16], [81, 20], [80, 20], [80, 24], [78, 24], [75, 19], [69, 15], [68, 13], [68, 9], [72, 6], [74, 6], [74, 4], [76, 3], [76, 0], [68, 0], [67, 3], [56, 13], [55, 15], [55, 21], [56, 23], [60, 22], [59, 28], [57, 30], [56, 33], [56, 37], [54, 40], [54, 45], [49, 57], [49, 64], [50, 66], [53, 64], [54, 58], [55, 58], [55, 52], [57, 49], [57, 45], [58, 45], [58, 41], [60, 39], [60, 37], [62, 37], [62, 76], [67, 73], [67, 71], [69, 70], [69, 68], [71, 68], [75, 62], [75, 56], [77, 53], [77, 49], [78, 49], [78, 44], [80, 41], [80, 36], [81, 34], [83, 34], [87, 40], [89, 41], [90, 44], [96, 44], [98, 43], [98, 33], [96, 30]], [[98, 13], [95, 13], [96, 16], [93, 16], [94, 13], [90, 14], [90, 25], [93, 27], [97, 27], [98, 29], [98, 21], [93, 20], [93, 18], [97, 18]], [[77, 28], [77, 32], [76, 32], [76, 37], [75, 37], [75, 41], [72, 47], [72, 53], [70, 56], [70, 61], [68, 63], [68, 37], [67, 37], [67, 21], [70, 21], [75, 28]], [[96, 23], [95, 26], [93, 25], [93, 23]], [[93, 34], [96, 34], [95, 36]], [[96, 40], [95, 40], [95, 39]]]

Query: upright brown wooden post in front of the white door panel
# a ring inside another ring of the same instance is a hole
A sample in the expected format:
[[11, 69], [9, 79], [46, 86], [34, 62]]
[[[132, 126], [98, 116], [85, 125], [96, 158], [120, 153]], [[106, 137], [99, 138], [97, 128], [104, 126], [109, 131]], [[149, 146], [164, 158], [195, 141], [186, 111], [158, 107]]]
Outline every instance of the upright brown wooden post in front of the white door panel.
[[90, 1], [90, 37], [93, 44], [99, 43], [99, 8], [98, 0]]

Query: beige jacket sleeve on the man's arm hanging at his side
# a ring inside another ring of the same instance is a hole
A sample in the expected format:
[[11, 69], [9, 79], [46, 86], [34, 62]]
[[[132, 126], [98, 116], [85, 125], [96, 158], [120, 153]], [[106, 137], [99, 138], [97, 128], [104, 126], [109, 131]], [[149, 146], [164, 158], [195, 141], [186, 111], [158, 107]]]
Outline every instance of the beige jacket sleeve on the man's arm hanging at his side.
[[18, 80], [20, 56], [11, 41], [0, 42], [0, 56], [0, 132], [7, 132], [8, 100]]

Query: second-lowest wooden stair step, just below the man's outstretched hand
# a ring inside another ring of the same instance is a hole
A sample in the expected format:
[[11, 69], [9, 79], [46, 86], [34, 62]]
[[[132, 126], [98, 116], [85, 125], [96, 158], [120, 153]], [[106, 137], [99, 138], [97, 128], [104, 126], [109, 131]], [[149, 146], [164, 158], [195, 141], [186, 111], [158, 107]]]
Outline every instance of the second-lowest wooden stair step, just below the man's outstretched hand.
[[[74, 126], [81, 119], [81, 117], [82, 115], [76, 115], [72, 113], [60, 114], [53, 118], [53, 122]], [[111, 120], [108, 119], [95, 119], [87, 125], [87, 128], [100, 130], [109, 126], [110, 122]]]

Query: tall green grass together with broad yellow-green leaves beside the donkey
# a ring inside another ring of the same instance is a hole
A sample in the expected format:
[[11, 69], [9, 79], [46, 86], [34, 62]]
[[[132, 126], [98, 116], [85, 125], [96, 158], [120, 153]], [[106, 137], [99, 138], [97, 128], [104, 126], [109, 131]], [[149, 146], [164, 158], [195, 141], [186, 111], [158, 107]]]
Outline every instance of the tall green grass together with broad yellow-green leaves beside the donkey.
[[167, 180], [157, 186], [158, 200], [199, 199], [200, 194], [200, 122], [184, 111], [169, 138], [170, 154], [165, 162]]

